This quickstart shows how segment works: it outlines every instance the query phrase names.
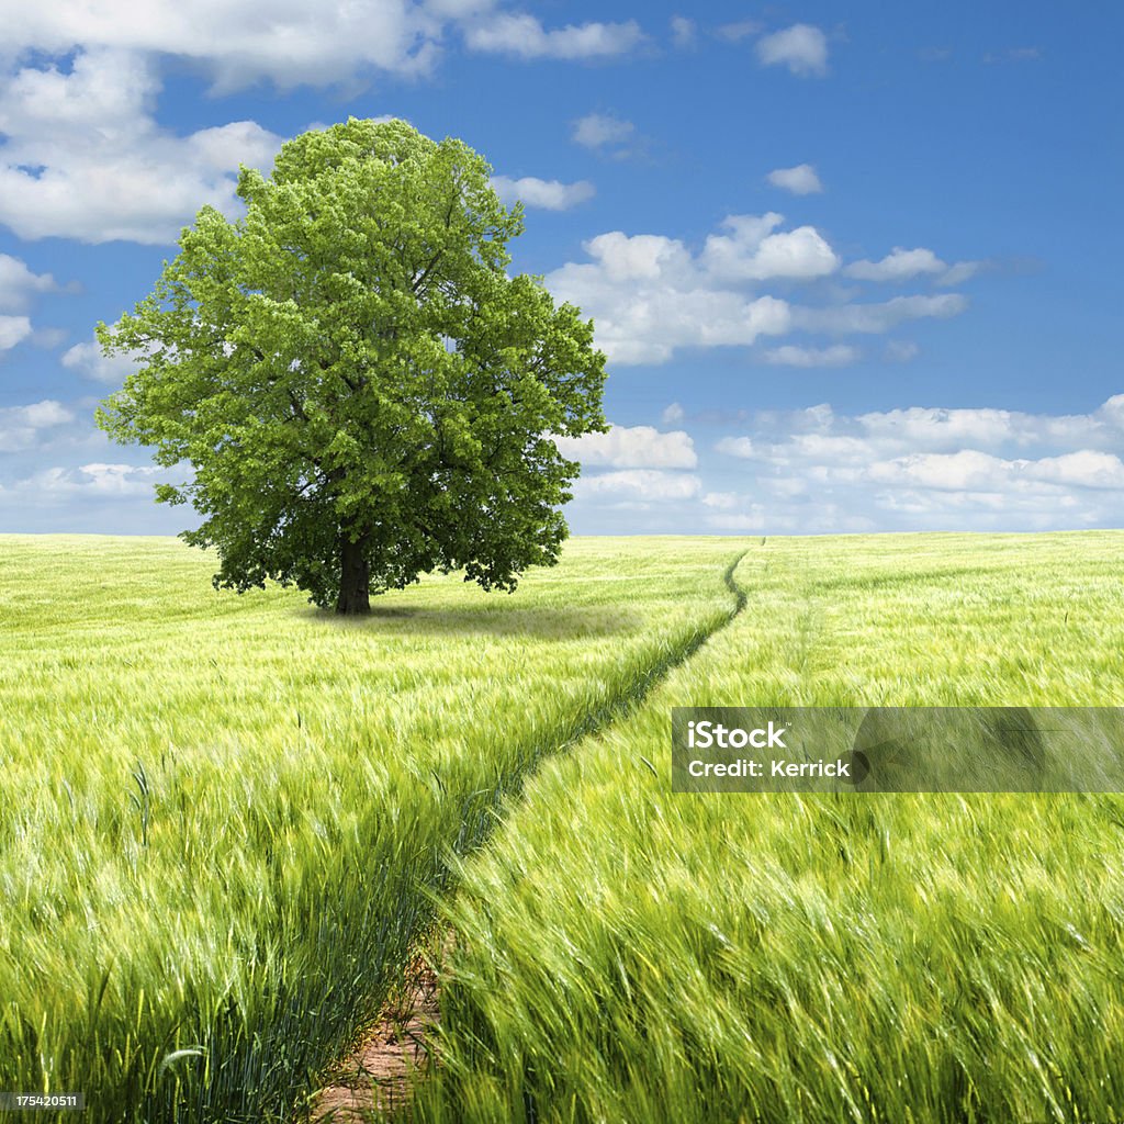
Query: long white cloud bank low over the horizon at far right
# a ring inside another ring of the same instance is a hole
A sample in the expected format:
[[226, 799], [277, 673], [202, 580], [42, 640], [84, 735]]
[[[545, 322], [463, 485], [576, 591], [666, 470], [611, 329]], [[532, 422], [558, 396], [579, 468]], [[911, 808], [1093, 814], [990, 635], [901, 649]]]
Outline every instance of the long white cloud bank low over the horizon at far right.
[[[1089, 414], [907, 407], [764, 411], [716, 450], [724, 515], [832, 529], [1035, 529], [1124, 518], [1124, 395]], [[733, 475], [731, 473], [734, 473]], [[727, 486], [728, 487], [728, 486]], [[735, 497], [731, 501], [729, 497]], [[709, 518], [704, 518], [714, 526]], [[764, 529], [764, 528], [763, 528]]]

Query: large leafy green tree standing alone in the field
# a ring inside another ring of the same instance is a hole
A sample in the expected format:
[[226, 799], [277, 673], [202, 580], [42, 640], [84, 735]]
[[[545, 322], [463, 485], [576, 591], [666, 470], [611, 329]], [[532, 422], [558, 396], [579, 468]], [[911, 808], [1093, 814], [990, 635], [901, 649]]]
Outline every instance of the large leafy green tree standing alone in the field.
[[552, 435], [604, 432], [592, 323], [509, 277], [523, 232], [455, 139], [352, 118], [242, 169], [245, 215], [183, 230], [107, 355], [138, 368], [98, 410], [189, 482], [216, 588], [268, 579], [366, 613], [371, 592], [463, 569], [514, 590], [551, 565], [579, 465]]

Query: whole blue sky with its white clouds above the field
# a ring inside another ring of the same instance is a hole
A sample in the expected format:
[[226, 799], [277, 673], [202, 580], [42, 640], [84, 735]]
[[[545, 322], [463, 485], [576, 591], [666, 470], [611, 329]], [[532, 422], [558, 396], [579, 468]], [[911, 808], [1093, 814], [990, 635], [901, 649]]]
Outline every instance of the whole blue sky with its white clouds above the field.
[[239, 162], [350, 115], [482, 152], [514, 268], [595, 318], [575, 533], [1122, 525], [1117, 6], [0, 16], [0, 531], [190, 522], [93, 426], [93, 325]]

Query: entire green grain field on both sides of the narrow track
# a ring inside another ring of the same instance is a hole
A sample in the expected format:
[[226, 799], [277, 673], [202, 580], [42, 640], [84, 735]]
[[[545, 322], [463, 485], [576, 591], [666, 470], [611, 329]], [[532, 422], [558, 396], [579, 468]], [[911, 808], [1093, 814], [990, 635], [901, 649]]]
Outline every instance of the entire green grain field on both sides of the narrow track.
[[1124, 705], [1122, 553], [587, 538], [339, 623], [2, 536], [0, 1091], [300, 1121], [436, 933], [413, 1120], [1124, 1118], [1124, 797], [670, 786], [674, 706]]

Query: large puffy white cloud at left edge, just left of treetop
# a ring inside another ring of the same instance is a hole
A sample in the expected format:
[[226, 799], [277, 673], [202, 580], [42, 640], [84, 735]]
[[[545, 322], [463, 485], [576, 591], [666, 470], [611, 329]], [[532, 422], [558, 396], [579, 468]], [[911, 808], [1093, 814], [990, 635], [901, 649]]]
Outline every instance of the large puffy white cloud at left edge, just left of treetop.
[[160, 244], [205, 203], [235, 212], [237, 163], [268, 166], [281, 138], [253, 121], [175, 136], [152, 116], [158, 89], [149, 62], [110, 49], [0, 85], [0, 221], [24, 238]]

